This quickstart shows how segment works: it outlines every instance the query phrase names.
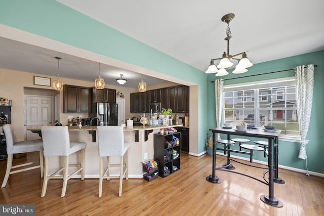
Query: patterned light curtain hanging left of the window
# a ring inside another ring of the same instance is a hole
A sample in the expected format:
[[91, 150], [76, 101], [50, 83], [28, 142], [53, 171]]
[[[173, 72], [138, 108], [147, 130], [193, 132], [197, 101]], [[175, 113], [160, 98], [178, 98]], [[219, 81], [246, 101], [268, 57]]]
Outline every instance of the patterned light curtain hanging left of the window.
[[[221, 126], [222, 121], [222, 110], [223, 110], [223, 79], [215, 80], [215, 110], [216, 110], [216, 126]], [[220, 135], [218, 134], [217, 139], [220, 139]]]

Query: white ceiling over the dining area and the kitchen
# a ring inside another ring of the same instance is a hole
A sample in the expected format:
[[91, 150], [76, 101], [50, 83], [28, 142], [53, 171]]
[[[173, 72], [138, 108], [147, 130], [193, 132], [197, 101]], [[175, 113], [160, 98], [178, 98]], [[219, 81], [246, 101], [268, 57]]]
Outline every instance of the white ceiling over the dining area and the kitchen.
[[[72, 9], [115, 28], [145, 44], [205, 71], [212, 58], [227, 50], [227, 24], [221, 17], [234, 13], [230, 22], [230, 54], [248, 51], [254, 64], [324, 50], [324, 1], [215, 1], [215, 0], [58, 0]], [[58, 53], [0, 37], [0, 68], [93, 81], [98, 62]], [[19, 60], [19, 61], [17, 61]], [[319, 64], [318, 62], [311, 62]], [[285, 69], [285, 68], [283, 68]], [[64, 70], [64, 73], [63, 73]], [[75, 72], [77, 71], [77, 73]], [[50, 74], [49, 74], [50, 73]], [[137, 88], [141, 74], [101, 65], [106, 83], [124, 74], [124, 85]], [[148, 84], [164, 82], [144, 76]]]

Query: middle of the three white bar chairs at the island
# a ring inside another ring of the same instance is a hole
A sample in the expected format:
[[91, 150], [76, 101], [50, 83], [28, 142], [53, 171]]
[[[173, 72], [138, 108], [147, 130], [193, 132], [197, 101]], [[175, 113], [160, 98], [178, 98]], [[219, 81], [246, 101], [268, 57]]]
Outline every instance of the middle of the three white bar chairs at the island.
[[[42, 190], [42, 197], [46, 195], [47, 183], [49, 179], [63, 179], [63, 188], [61, 197], [65, 196], [67, 181], [77, 172], [81, 171], [81, 180], [85, 179], [84, 164], [85, 164], [85, 148], [84, 142], [70, 142], [67, 126], [42, 126], [42, 137], [45, 157], [45, 175]], [[69, 155], [81, 151], [81, 162], [78, 164], [69, 164]], [[49, 157], [63, 157], [63, 166], [55, 171], [52, 175], [48, 174]], [[77, 167], [72, 174], [68, 174], [69, 166]], [[57, 175], [63, 171], [63, 175]]]

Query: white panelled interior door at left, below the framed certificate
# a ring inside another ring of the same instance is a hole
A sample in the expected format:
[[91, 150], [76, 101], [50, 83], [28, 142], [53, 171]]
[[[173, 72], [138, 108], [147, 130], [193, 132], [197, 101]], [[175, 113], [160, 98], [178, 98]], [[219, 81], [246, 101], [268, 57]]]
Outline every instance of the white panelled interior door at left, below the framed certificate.
[[[25, 96], [26, 125], [48, 125], [53, 122], [52, 96]], [[39, 139], [38, 134], [26, 131], [26, 140]]]

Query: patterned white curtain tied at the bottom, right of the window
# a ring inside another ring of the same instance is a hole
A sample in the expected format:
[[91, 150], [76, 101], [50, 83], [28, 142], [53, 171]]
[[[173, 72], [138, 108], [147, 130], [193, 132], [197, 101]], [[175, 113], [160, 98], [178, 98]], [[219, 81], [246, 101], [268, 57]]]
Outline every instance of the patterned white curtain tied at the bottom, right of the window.
[[298, 66], [296, 72], [296, 99], [297, 116], [300, 131], [300, 151], [298, 157], [306, 160], [306, 135], [309, 126], [310, 113], [312, 110], [313, 87], [314, 87], [314, 65], [307, 65], [307, 68]]

